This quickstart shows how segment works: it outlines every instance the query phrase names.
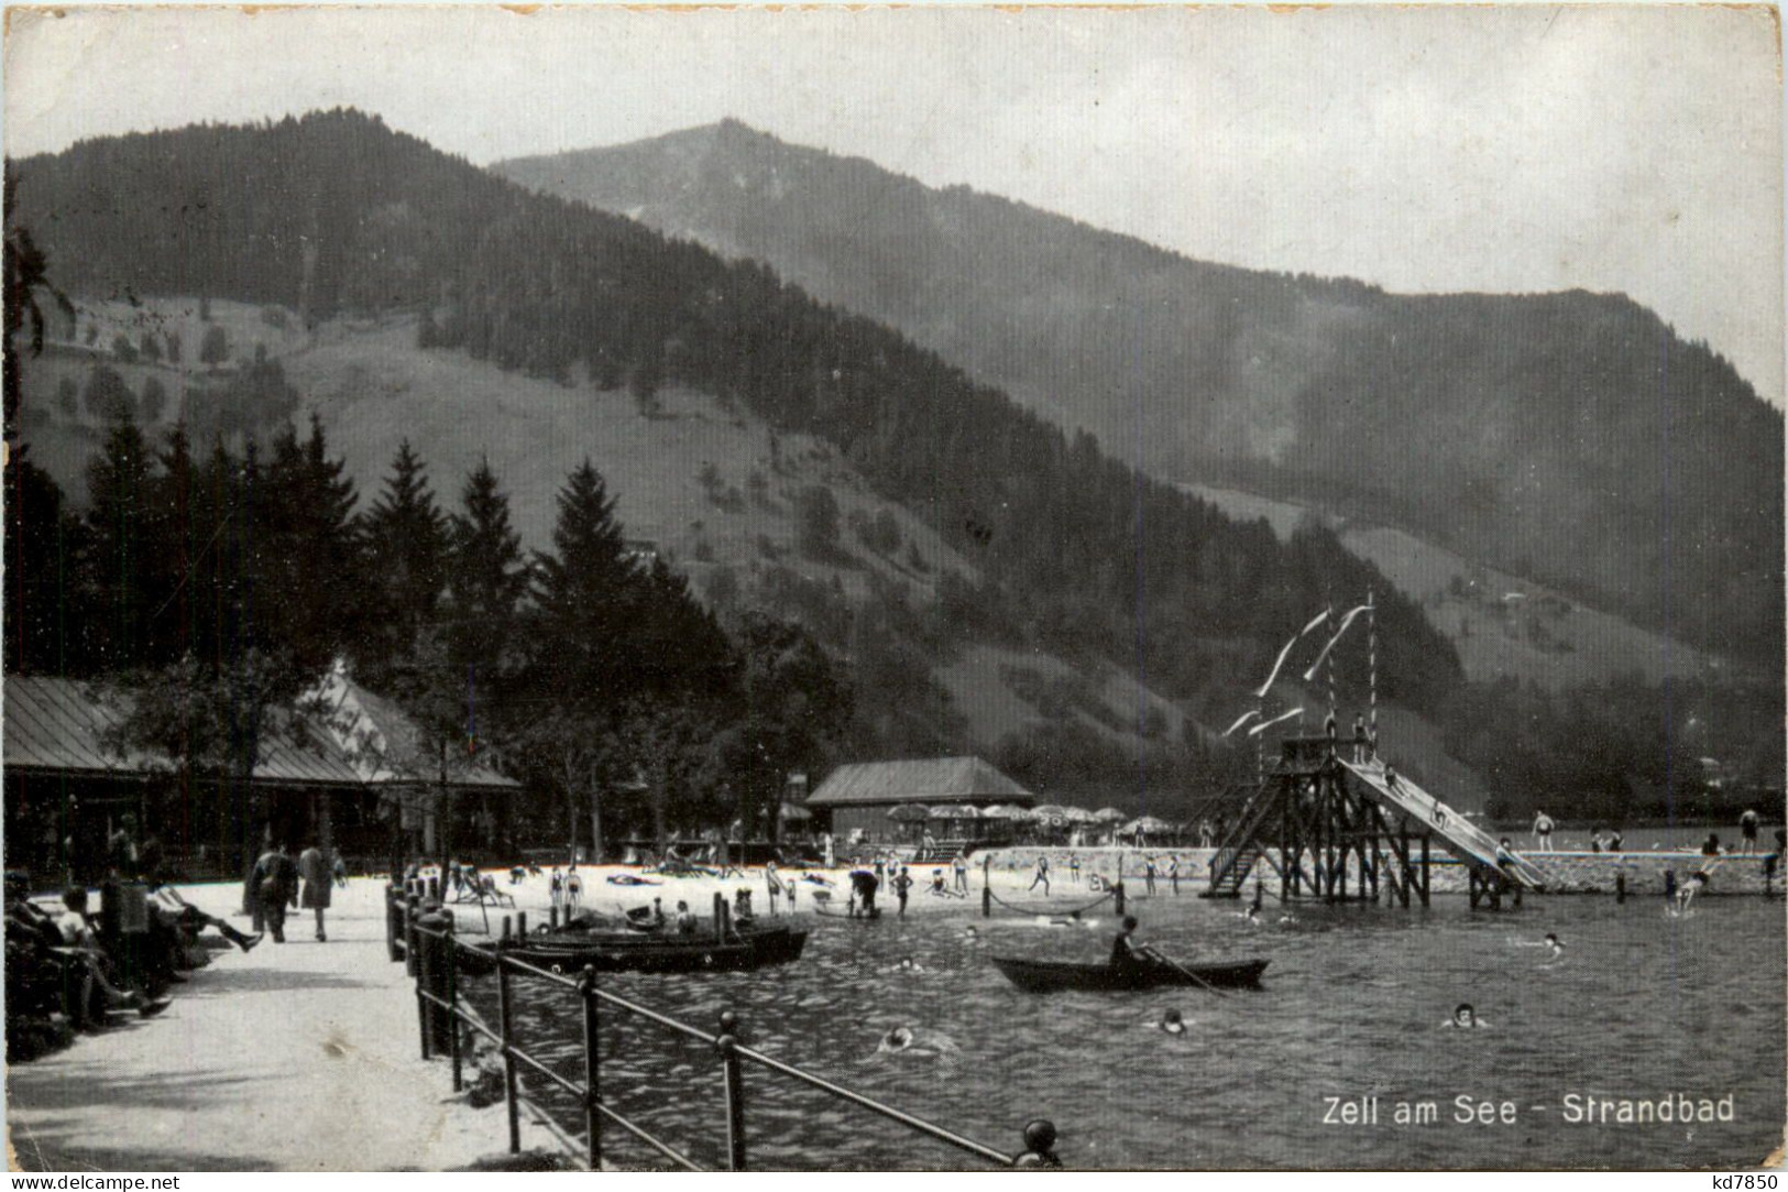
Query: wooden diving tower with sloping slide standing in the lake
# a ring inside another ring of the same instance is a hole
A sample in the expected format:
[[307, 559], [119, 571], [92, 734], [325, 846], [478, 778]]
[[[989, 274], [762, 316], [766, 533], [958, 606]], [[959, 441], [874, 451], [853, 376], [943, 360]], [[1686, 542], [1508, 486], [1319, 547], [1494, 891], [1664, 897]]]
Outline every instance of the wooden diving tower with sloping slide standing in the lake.
[[1370, 757], [1362, 743], [1287, 737], [1278, 762], [1248, 798], [1210, 861], [1207, 898], [1241, 897], [1250, 875], [1273, 870], [1282, 900], [1316, 897], [1429, 904], [1438, 843], [1468, 870], [1472, 906], [1500, 909], [1545, 875], [1463, 813]]

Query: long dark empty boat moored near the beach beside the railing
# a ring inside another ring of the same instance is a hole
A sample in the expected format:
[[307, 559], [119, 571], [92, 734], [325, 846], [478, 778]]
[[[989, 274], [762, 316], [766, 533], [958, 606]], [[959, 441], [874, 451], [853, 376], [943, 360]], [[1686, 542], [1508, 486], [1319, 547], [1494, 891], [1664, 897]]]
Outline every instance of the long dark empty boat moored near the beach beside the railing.
[[[740, 972], [801, 959], [806, 932], [794, 927], [747, 927], [724, 943], [712, 934], [644, 934], [631, 931], [558, 931], [499, 945], [504, 956], [545, 968], [576, 974], [597, 972]], [[488, 952], [461, 949], [463, 972], [493, 972]]]

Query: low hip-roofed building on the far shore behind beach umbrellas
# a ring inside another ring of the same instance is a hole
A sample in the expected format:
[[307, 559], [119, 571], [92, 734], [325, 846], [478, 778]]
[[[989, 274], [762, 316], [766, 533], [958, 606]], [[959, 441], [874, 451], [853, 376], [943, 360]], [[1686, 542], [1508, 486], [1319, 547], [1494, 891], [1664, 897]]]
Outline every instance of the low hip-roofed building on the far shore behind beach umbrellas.
[[1030, 807], [1037, 800], [1023, 786], [980, 757], [923, 757], [839, 766], [808, 796], [806, 805], [828, 830], [864, 843], [896, 843], [910, 836], [889, 813], [903, 804], [1007, 804]]

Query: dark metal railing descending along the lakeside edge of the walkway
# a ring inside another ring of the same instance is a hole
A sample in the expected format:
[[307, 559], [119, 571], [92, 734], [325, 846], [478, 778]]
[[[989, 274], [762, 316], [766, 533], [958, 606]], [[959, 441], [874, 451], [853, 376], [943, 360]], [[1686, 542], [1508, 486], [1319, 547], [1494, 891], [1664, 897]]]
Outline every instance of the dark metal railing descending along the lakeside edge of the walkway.
[[[519, 1090], [520, 1069], [538, 1074], [542, 1079], [569, 1095], [576, 1097], [585, 1115], [585, 1162], [590, 1171], [603, 1165], [603, 1124], [608, 1122], [658, 1154], [665, 1156], [687, 1171], [706, 1171], [685, 1151], [660, 1138], [638, 1122], [628, 1119], [610, 1106], [601, 1094], [601, 1017], [603, 1009], [615, 1009], [633, 1018], [649, 1022], [669, 1034], [696, 1040], [713, 1049], [721, 1065], [721, 1086], [726, 1108], [726, 1169], [746, 1171], [746, 1088], [744, 1065], [755, 1065], [765, 1072], [796, 1081], [831, 1099], [855, 1104], [869, 1113], [883, 1117], [905, 1129], [924, 1135], [944, 1145], [955, 1147], [996, 1167], [1060, 1167], [1055, 1154], [1055, 1126], [1044, 1119], [1033, 1119], [1023, 1129], [1025, 1149], [1007, 1154], [996, 1147], [946, 1129], [935, 1122], [914, 1117], [905, 1110], [867, 1097], [860, 1092], [815, 1076], [792, 1063], [785, 1063], [755, 1047], [738, 1042], [738, 1017], [731, 1009], [719, 1015], [719, 1031], [710, 1033], [701, 1027], [679, 1022], [656, 1009], [642, 1006], [631, 999], [603, 990], [595, 983], [595, 968], [585, 966], [578, 977], [549, 972], [538, 965], [508, 954], [508, 949], [527, 938], [527, 915], [515, 918], [517, 931], [511, 934], [510, 916], [502, 918], [502, 934], [490, 945], [461, 943], [454, 932], [451, 911], [438, 902], [424, 902], [420, 882], [408, 891], [388, 890], [388, 945], [392, 959], [402, 959], [417, 984], [417, 1022], [422, 1038], [422, 1058], [429, 1060], [445, 1051], [452, 1061], [452, 1086], [460, 1092], [465, 1086], [465, 1058], [461, 1054], [460, 1024], [490, 1040], [502, 1056], [502, 1088], [510, 1124], [510, 1153], [522, 1149]], [[426, 907], [426, 909], [424, 909]], [[433, 920], [433, 922], [429, 922]], [[399, 943], [402, 945], [399, 949]], [[460, 997], [460, 952], [474, 952], [479, 963], [490, 963], [497, 977], [497, 1026], [486, 1024]], [[515, 977], [527, 977], [551, 986], [558, 995], [578, 997], [583, 1008], [583, 1081], [567, 1079], [551, 1065], [527, 1052], [517, 1040], [515, 1029]]]

